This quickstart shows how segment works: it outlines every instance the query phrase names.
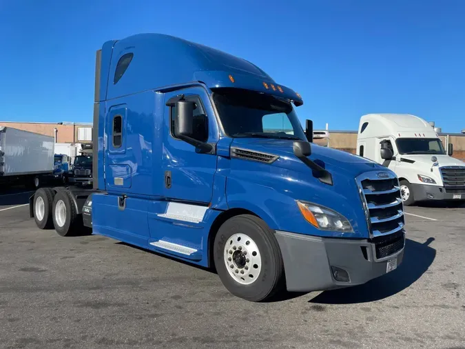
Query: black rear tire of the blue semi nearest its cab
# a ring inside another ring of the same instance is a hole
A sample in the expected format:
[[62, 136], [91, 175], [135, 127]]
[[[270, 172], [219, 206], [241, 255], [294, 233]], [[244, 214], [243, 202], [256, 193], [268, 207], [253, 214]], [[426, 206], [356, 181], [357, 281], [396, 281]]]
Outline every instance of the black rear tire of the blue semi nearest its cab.
[[[63, 201], [65, 206], [65, 220], [62, 226], [56, 219], [56, 204]], [[53, 225], [58, 235], [70, 237], [77, 235], [83, 227], [82, 215], [77, 214], [77, 208], [72, 199], [72, 194], [68, 189], [57, 190], [53, 200]]]

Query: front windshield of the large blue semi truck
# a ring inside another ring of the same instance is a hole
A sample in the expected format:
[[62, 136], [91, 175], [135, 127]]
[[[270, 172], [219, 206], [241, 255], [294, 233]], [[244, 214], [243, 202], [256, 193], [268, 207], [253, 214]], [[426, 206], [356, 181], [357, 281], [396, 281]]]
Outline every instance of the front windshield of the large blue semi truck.
[[218, 88], [213, 100], [229, 137], [307, 140], [291, 103], [238, 88]]

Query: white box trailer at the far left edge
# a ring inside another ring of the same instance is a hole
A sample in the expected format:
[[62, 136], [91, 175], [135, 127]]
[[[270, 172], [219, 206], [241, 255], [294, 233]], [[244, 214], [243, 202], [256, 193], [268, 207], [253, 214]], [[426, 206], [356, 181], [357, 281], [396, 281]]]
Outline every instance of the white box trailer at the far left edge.
[[0, 183], [41, 186], [54, 168], [54, 137], [0, 127]]

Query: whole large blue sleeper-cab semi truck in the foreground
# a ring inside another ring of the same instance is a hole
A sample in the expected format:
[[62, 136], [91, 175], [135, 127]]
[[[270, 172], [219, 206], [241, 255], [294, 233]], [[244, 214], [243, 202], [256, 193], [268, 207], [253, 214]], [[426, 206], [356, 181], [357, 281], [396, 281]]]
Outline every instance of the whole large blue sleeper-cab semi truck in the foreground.
[[302, 103], [253, 63], [198, 43], [107, 41], [93, 188], [41, 188], [30, 216], [61, 236], [92, 230], [214, 268], [249, 301], [366, 283], [402, 262], [399, 181], [312, 143]]

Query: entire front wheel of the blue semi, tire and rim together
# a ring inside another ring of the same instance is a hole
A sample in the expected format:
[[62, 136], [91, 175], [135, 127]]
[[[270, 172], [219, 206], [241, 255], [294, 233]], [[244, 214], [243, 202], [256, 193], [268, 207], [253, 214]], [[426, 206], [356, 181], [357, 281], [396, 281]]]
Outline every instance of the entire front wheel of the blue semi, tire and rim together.
[[223, 285], [242, 299], [265, 301], [285, 286], [278, 241], [258, 217], [225, 221], [215, 237], [214, 261]]

